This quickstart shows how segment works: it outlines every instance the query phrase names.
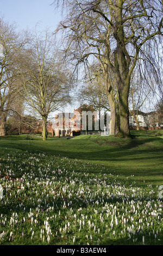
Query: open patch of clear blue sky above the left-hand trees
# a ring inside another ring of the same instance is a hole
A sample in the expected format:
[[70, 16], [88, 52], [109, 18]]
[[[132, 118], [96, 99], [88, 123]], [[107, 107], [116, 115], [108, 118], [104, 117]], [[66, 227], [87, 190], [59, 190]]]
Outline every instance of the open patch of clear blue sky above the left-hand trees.
[[61, 20], [51, 5], [53, 0], [0, 0], [0, 16], [9, 23], [16, 22], [18, 29], [34, 29], [39, 23], [40, 30], [54, 31]]

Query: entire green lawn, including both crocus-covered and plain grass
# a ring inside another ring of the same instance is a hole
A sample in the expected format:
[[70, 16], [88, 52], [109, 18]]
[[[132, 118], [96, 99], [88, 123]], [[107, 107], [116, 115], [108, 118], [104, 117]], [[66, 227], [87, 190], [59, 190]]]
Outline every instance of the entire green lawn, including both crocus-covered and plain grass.
[[163, 245], [163, 131], [131, 134], [1, 137], [0, 245]]

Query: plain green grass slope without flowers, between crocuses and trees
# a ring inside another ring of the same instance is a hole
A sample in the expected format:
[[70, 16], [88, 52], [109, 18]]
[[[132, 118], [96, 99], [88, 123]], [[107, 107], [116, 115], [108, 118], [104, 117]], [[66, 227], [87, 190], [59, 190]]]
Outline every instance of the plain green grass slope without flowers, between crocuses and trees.
[[[142, 186], [163, 184], [163, 131], [132, 131], [133, 139], [114, 136], [78, 136], [72, 139], [41, 138], [27, 135], [1, 137], [0, 154], [11, 150], [45, 152], [50, 155], [68, 156], [87, 162], [104, 164], [117, 175], [126, 176]], [[134, 175], [131, 177], [131, 175]]]

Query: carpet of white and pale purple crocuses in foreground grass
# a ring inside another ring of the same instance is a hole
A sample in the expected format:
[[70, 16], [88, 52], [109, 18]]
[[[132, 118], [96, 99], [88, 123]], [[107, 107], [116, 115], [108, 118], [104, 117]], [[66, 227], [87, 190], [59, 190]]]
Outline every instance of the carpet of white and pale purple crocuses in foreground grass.
[[128, 178], [67, 157], [4, 154], [0, 245], [163, 244], [158, 187]]

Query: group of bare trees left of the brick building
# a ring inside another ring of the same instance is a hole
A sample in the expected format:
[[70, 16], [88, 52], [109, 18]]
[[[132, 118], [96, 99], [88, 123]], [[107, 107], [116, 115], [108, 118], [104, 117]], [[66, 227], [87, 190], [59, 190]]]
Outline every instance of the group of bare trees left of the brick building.
[[47, 31], [18, 34], [14, 25], [0, 20], [0, 42], [0, 135], [6, 133], [9, 116], [20, 130], [21, 124], [36, 127], [41, 119], [46, 140], [48, 115], [70, 101], [70, 66]]

